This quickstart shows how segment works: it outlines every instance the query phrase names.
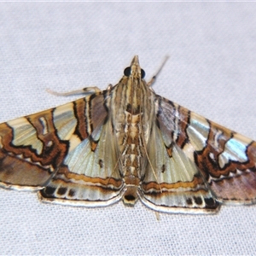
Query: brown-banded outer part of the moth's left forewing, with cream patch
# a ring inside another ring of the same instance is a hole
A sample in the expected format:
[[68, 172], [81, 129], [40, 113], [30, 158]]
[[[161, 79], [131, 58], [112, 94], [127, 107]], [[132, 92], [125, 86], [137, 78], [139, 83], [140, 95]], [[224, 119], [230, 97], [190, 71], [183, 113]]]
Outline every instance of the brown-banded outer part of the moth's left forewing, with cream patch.
[[[48, 125], [47, 134], [40, 122], [42, 117]], [[29, 143], [15, 145], [14, 142], [22, 141], [22, 136], [30, 138], [32, 146]], [[67, 154], [68, 143], [55, 135], [51, 110], [1, 124], [0, 137], [0, 181], [4, 187], [17, 185], [18, 189], [20, 186], [37, 189], [43, 186]]]

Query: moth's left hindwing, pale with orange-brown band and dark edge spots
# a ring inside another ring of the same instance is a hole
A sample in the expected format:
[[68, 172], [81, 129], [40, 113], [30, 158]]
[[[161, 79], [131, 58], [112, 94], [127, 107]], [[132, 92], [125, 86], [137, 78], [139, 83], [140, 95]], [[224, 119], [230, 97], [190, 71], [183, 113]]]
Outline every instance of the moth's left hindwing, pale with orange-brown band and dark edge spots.
[[39, 197], [43, 201], [87, 207], [119, 201], [124, 184], [117, 149], [111, 122], [107, 120], [67, 154], [55, 177], [38, 191]]

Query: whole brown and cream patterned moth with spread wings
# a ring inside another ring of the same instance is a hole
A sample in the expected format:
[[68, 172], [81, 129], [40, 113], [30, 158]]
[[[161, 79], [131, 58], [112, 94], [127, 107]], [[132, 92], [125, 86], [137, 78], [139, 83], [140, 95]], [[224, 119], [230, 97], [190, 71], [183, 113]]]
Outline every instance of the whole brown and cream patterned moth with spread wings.
[[255, 203], [256, 143], [154, 93], [137, 55], [107, 90], [0, 124], [0, 184], [41, 201], [158, 212]]

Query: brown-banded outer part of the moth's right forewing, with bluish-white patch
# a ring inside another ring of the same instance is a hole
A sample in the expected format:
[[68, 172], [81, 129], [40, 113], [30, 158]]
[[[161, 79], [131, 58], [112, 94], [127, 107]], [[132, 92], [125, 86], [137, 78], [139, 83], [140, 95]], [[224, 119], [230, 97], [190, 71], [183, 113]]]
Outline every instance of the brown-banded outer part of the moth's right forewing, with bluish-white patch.
[[[207, 147], [195, 154], [195, 162], [219, 200], [245, 204], [255, 202], [256, 143], [223, 126], [209, 123], [211, 131]], [[237, 146], [241, 145], [235, 154], [230, 152], [231, 140], [237, 142]], [[224, 158], [224, 154], [229, 158]]]

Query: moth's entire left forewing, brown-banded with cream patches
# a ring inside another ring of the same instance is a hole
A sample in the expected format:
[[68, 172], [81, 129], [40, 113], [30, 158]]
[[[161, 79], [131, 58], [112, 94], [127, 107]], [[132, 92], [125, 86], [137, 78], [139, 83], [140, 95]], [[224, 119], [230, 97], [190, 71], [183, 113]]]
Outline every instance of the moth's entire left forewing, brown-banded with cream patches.
[[101, 92], [0, 124], [0, 185], [40, 189], [108, 117]]

